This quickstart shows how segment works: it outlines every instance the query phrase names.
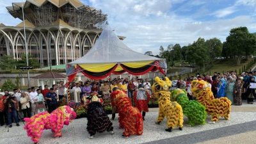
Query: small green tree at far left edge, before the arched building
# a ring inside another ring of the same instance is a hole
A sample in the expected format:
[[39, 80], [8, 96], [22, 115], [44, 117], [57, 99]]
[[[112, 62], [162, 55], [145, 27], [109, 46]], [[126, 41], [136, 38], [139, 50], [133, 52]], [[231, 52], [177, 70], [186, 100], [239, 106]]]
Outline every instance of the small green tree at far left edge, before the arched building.
[[17, 61], [13, 59], [12, 56], [3, 55], [0, 58], [0, 68], [1, 70], [15, 69]]

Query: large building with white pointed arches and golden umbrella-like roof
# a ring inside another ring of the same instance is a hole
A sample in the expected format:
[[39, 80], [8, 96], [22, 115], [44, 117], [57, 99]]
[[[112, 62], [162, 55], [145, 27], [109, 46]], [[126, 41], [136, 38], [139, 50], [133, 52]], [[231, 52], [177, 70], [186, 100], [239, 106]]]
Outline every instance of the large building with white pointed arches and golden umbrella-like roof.
[[66, 64], [84, 56], [99, 38], [107, 19], [101, 10], [79, 0], [27, 0], [6, 8], [22, 22], [17, 26], [0, 24], [0, 58], [8, 54], [19, 60], [26, 54], [26, 42], [28, 54], [41, 67]]

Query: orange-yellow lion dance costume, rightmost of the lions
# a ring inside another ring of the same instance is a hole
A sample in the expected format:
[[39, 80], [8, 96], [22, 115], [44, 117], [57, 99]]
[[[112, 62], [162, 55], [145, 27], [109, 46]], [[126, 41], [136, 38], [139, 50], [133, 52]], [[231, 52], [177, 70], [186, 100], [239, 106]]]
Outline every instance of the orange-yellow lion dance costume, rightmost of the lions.
[[191, 92], [196, 96], [196, 100], [205, 106], [205, 111], [212, 116], [212, 124], [215, 124], [220, 116], [229, 120], [231, 101], [227, 97], [214, 99], [211, 88], [206, 81], [192, 81]]

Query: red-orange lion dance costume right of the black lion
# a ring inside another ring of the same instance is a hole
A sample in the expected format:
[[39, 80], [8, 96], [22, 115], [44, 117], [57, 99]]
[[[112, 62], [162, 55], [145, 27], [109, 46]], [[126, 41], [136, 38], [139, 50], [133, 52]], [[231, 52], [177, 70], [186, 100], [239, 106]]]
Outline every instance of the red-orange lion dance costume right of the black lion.
[[116, 90], [111, 95], [115, 97], [113, 101], [118, 109], [120, 128], [124, 128], [122, 137], [128, 138], [133, 134], [141, 135], [143, 133], [143, 119], [139, 109], [132, 106], [129, 97], [121, 90]]

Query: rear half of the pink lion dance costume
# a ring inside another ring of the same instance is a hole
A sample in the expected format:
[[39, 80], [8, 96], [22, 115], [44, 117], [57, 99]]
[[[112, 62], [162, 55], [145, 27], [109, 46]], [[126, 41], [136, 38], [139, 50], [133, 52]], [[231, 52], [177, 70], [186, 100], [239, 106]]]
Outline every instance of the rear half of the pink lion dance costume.
[[50, 114], [48, 112], [38, 113], [31, 118], [24, 118], [26, 125], [24, 129], [26, 129], [28, 136], [31, 137], [31, 140], [34, 143], [38, 143], [42, 132], [44, 130], [45, 124], [47, 124], [47, 120], [49, 120]]

